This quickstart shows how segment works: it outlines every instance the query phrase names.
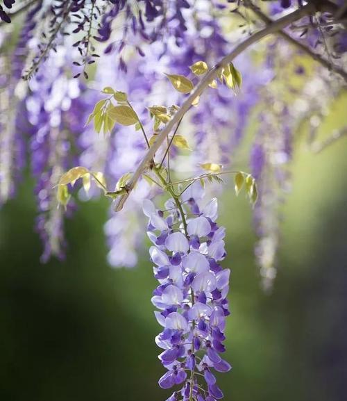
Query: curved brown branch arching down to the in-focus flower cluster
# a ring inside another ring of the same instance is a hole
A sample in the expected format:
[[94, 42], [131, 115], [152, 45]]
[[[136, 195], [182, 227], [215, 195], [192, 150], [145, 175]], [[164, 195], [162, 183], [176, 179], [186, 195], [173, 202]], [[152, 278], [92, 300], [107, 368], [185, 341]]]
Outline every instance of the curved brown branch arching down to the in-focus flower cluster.
[[162, 129], [162, 131], [158, 135], [157, 140], [148, 150], [142, 162], [139, 164], [137, 170], [133, 174], [132, 179], [128, 183], [127, 185], [128, 192], [116, 199], [115, 211], [120, 211], [123, 208], [126, 199], [128, 199], [128, 196], [130, 195], [131, 190], [133, 190], [139, 177], [141, 177], [142, 173], [149, 167], [150, 162], [153, 160], [155, 152], [157, 152], [160, 145], [162, 145], [162, 142], [164, 142], [165, 138], [167, 138], [167, 135], [174, 129], [178, 121], [180, 121], [180, 119], [185, 115], [185, 113], [187, 113], [187, 111], [192, 106], [192, 103], [196, 99], [196, 97], [200, 96], [201, 93], [206, 88], [208, 88], [208, 84], [217, 77], [219, 69], [231, 63], [235, 57], [239, 56], [239, 54], [242, 54], [242, 52], [245, 51], [248, 47], [250, 47], [252, 44], [255, 44], [256, 42], [259, 42], [259, 40], [261, 40], [265, 36], [271, 35], [271, 33], [276, 33], [278, 31], [281, 31], [289, 24], [298, 21], [298, 19], [301, 19], [305, 15], [313, 14], [315, 11], [316, 7], [313, 4], [309, 3], [306, 6], [303, 6], [303, 8], [294, 11], [293, 13], [285, 15], [285, 17], [276, 20], [276, 22], [269, 24], [269, 26], [266, 26], [266, 28], [262, 29], [261, 31], [257, 31], [250, 37], [246, 38], [237, 47], [235, 47], [235, 49], [230, 54], [222, 58], [219, 61], [219, 63], [214, 65], [214, 67], [212, 67], [210, 71], [203, 77], [200, 83], [198, 83], [192, 94], [189, 95], [189, 97], [187, 97], [182, 107], [177, 111], [174, 117], [172, 117], [171, 120], [167, 123], [167, 125], [164, 126], [164, 129]]

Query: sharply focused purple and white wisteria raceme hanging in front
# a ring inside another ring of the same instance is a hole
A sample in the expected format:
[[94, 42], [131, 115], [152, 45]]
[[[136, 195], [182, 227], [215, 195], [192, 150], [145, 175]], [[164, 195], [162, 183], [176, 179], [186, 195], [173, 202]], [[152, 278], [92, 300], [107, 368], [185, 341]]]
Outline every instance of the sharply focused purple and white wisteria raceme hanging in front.
[[216, 223], [217, 199], [201, 208], [204, 191], [196, 184], [193, 187], [183, 194], [182, 206], [178, 199], [169, 199], [166, 211], [144, 201], [153, 243], [149, 253], [159, 281], [152, 302], [164, 328], [155, 338], [163, 349], [159, 359], [167, 368], [159, 385], [178, 386], [169, 401], [223, 398], [213, 370], [228, 372], [231, 368], [220, 356], [226, 350], [224, 329], [229, 315], [230, 270], [219, 265], [226, 256], [225, 229]]

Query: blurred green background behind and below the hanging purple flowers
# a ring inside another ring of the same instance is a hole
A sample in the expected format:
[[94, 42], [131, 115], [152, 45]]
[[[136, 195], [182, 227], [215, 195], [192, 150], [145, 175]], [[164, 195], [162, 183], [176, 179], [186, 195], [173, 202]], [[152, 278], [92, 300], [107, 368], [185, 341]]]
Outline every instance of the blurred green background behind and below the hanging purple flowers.
[[[346, 106], [346, 97], [332, 106], [321, 138], [346, 122]], [[347, 144], [313, 155], [304, 129], [271, 295], [260, 290], [250, 206], [231, 184], [220, 201], [223, 265], [232, 268], [226, 358], [234, 368], [219, 377], [226, 401], [346, 399]], [[165, 400], [147, 253], [133, 270], [107, 265], [103, 199], [67, 222], [67, 260], [40, 265], [32, 192], [27, 178], [0, 212], [0, 400]]]

